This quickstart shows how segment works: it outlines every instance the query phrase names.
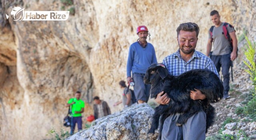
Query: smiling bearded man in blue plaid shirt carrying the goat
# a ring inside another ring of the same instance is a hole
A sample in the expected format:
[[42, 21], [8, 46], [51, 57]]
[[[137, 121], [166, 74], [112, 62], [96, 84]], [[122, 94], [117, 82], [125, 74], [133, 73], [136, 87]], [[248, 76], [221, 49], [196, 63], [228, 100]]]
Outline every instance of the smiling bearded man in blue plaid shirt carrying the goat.
[[[162, 62], [168, 69], [168, 73], [178, 76], [193, 69], [208, 69], [218, 76], [212, 60], [195, 50], [199, 34], [198, 25], [192, 22], [182, 23], [176, 31], [179, 49], [164, 58]], [[190, 91], [191, 99], [204, 100], [207, 98], [200, 90], [195, 90]], [[170, 98], [164, 92], [160, 92], [155, 100], [159, 104], [170, 102]], [[188, 118], [186, 123], [176, 125], [179, 116], [180, 114], [176, 113], [166, 118], [162, 129], [162, 140], [205, 140], [206, 113], [203, 110]]]

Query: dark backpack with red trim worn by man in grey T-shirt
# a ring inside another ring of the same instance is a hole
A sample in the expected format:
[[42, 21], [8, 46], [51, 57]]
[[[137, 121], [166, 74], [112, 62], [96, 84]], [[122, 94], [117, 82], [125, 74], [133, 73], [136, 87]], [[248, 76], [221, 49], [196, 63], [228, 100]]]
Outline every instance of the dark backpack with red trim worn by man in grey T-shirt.
[[[223, 30], [222, 34], [224, 34], [225, 38], [228, 40], [228, 42], [229, 42], [229, 44], [230, 44], [230, 51], [232, 52], [232, 51], [233, 51], [233, 40], [230, 38], [230, 35], [228, 34], [228, 26], [230, 26], [231, 28], [233, 28], [235, 32], [236, 32], [236, 30], [235, 30], [234, 26], [228, 24], [227, 22], [224, 22], [224, 24], [223, 24], [223, 26], [222, 26], [222, 30]], [[210, 28], [210, 36], [211, 36], [211, 38], [212, 38], [212, 31], [213, 31], [213, 28], [214, 28], [214, 26], [212, 26], [212, 27]], [[212, 41], [213, 41], [213, 38], [212, 38], [211, 42], [212, 42]], [[236, 50], [236, 56], [237, 56], [237, 54], [238, 54], [238, 48], [237, 48], [237, 50]]]

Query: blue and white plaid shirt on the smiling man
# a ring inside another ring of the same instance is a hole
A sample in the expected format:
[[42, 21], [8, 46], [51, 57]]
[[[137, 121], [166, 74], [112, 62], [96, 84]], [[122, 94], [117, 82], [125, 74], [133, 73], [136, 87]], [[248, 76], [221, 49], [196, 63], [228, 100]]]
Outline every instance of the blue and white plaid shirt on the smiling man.
[[169, 74], [174, 76], [178, 76], [193, 69], [208, 69], [219, 76], [212, 60], [196, 50], [188, 62], [182, 60], [180, 56], [180, 49], [178, 49], [177, 52], [166, 56], [162, 63], [168, 69]]

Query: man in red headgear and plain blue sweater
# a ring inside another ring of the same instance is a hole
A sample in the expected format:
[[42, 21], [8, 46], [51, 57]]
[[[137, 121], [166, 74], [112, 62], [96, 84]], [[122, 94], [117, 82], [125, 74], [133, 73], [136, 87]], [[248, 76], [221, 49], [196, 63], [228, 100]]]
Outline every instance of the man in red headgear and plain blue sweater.
[[[146, 41], [149, 34], [146, 26], [138, 26], [139, 39], [129, 48], [127, 60], [127, 81], [134, 81], [134, 94], [138, 104], [148, 102], [150, 95], [150, 84], [144, 84], [143, 78], [148, 67], [157, 63], [154, 46]], [[131, 74], [132, 73], [132, 74]], [[132, 77], [131, 77], [132, 75]], [[132, 86], [132, 85], [130, 85]]]

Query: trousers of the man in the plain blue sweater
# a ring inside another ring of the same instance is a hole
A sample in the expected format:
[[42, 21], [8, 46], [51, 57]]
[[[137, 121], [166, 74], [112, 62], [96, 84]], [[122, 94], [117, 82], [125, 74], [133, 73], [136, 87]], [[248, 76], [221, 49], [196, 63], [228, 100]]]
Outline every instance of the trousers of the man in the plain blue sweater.
[[134, 81], [134, 94], [137, 101], [142, 100], [148, 102], [150, 96], [150, 84], [144, 84], [143, 78], [145, 74], [133, 73], [132, 78]]

